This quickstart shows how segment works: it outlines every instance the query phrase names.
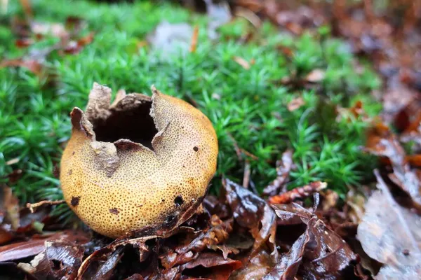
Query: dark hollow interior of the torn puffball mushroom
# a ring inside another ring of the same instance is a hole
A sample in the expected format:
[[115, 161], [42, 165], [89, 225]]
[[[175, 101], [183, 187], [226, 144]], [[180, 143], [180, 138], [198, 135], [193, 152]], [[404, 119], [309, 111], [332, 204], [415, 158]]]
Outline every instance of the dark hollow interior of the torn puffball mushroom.
[[128, 139], [152, 149], [152, 139], [158, 132], [149, 115], [152, 102], [142, 102], [113, 109], [105, 120], [91, 120], [97, 141], [114, 142]]

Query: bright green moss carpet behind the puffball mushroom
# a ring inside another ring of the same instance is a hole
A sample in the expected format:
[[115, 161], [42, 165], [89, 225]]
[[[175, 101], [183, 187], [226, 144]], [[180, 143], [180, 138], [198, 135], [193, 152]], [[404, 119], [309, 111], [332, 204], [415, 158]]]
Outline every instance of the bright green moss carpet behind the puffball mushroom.
[[[295, 151], [297, 165], [290, 188], [323, 180], [344, 193], [347, 186], [359, 186], [370, 176], [373, 160], [359, 150], [367, 123], [361, 117], [338, 118], [335, 108], [363, 100], [366, 112], [374, 116], [381, 108], [368, 93], [380, 80], [365, 64], [356, 71], [354, 57], [342, 41], [329, 38], [328, 28], [322, 29], [322, 35], [293, 38], [268, 22], [256, 30], [240, 18], [220, 27], [220, 41], [213, 42], [206, 36], [206, 17], [168, 3], [33, 2], [35, 20], [64, 22], [67, 16], [77, 15], [88, 23], [83, 34], [94, 31], [95, 39], [77, 55], [53, 52], [48, 56], [46, 64], [59, 80], [55, 87], [46, 86], [46, 80], [24, 68], [0, 69], [0, 174], [22, 169], [22, 178], [12, 184], [22, 202], [60, 197], [54, 174], [70, 134], [69, 111], [86, 105], [93, 81], [109, 85], [114, 92], [124, 87], [147, 94], [154, 84], [166, 94], [193, 99], [218, 134], [214, 189], [222, 175], [236, 180], [243, 176], [243, 160], [237, 158], [231, 136], [258, 158], [244, 155], [259, 189], [276, 176], [275, 161], [286, 148]], [[10, 4], [0, 25], [2, 57], [19, 57], [54, 43], [50, 38], [29, 50], [16, 48], [8, 20], [22, 15], [22, 10], [17, 3]], [[196, 52], [168, 59], [150, 48], [138, 49], [138, 42], [161, 20], [198, 25]], [[253, 37], [244, 43], [249, 32]], [[279, 51], [281, 45], [290, 48], [292, 55]], [[243, 69], [234, 56], [254, 63]], [[313, 90], [281, 85], [282, 78], [293, 73], [302, 78], [314, 69], [326, 71], [326, 76]], [[288, 103], [297, 97], [305, 105], [288, 111]], [[6, 165], [14, 158], [19, 162]], [[8, 182], [6, 176], [1, 178]]]

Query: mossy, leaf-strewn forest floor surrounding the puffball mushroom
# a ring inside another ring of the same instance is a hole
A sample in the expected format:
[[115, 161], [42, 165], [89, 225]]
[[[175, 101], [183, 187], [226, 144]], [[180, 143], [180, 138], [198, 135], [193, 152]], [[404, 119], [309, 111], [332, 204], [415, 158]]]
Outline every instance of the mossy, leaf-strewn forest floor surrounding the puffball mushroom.
[[[420, 275], [419, 3], [186, 2], [5, 1], [0, 276]], [[94, 82], [155, 85], [213, 123], [218, 169], [190, 231], [113, 241], [67, 204], [25, 208], [62, 200], [69, 112]]]

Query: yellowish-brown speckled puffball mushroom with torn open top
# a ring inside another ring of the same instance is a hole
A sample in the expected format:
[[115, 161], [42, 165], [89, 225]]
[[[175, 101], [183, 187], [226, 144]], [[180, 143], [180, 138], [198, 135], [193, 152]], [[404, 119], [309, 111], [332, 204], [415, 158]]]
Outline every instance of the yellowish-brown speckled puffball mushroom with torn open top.
[[201, 111], [152, 86], [152, 98], [93, 84], [71, 113], [60, 181], [69, 207], [107, 237], [187, 220], [216, 170], [218, 139]]

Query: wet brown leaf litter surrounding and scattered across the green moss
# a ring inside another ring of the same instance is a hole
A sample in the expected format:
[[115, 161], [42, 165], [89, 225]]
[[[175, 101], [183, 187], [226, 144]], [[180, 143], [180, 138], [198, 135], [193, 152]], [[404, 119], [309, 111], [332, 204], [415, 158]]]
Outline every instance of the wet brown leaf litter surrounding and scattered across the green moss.
[[[138, 236], [113, 241], [88, 230], [63, 230], [48, 215], [51, 205], [39, 207], [34, 214], [19, 209], [10, 189], [2, 186], [0, 267], [20, 269], [33, 279], [370, 279], [375, 274], [376, 279], [419, 277], [421, 106], [417, 90], [421, 76], [417, 75], [418, 64], [391, 55], [416, 57], [414, 50], [420, 42], [410, 38], [418, 38], [420, 33], [414, 23], [419, 15], [408, 16], [403, 27], [394, 26], [387, 16], [375, 18], [370, 2], [348, 10], [335, 3], [331, 15], [323, 13], [323, 5], [288, 6], [269, 0], [241, 0], [235, 5], [245, 8], [241, 14], [248, 18], [269, 18], [291, 34], [302, 34], [330, 22], [337, 35], [348, 39], [354, 52], [374, 62], [387, 81], [385, 94], [380, 95], [386, 124], [373, 124], [366, 151], [380, 156], [383, 176], [379, 172], [375, 175], [381, 191], [370, 194], [350, 190], [343, 206], [337, 193], [323, 190], [323, 182], [287, 191], [289, 173], [295, 165], [292, 152], [286, 151], [276, 163], [276, 179], [265, 188], [265, 198], [223, 179], [220, 196], [207, 195], [196, 214], [171, 234], [151, 236], [138, 232]], [[219, 17], [210, 21], [214, 22], [208, 27], [210, 36], [232, 15], [225, 1], [206, 4], [210, 17]], [[399, 31], [403, 28], [409, 35], [395, 40], [402, 36]], [[20, 34], [16, 44], [20, 47], [29, 48], [45, 36], [55, 36], [60, 43], [28, 52], [20, 59], [4, 60], [0, 65], [27, 67], [41, 76], [45, 72], [44, 58], [52, 51], [72, 54], [91, 43], [93, 34], [81, 35], [81, 29], [83, 23], [77, 18], [67, 19], [65, 25], [16, 20], [15, 32]], [[187, 33], [189, 36], [183, 37], [185, 50], [195, 52], [199, 29], [189, 27]], [[396, 43], [399, 41], [402, 43]], [[253, 64], [241, 57], [233, 59], [245, 70]], [[314, 69], [286, 83], [307, 86], [323, 78], [323, 69]], [[294, 111], [302, 106], [302, 99], [288, 105]], [[349, 113], [361, 116], [362, 108], [362, 103], [357, 102]], [[395, 125], [397, 134], [389, 130], [389, 123]], [[403, 146], [410, 142], [415, 145], [407, 154]], [[240, 158], [247, 155], [238, 145], [236, 150]], [[248, 180], [243, 181], [247, 187]], [[308, 204], [312, 195], [313, 207]], [[51, 232], [49, 228], [60, 230]], [[374, 267], [376, 260], [382, 264], [380, 271]]]

